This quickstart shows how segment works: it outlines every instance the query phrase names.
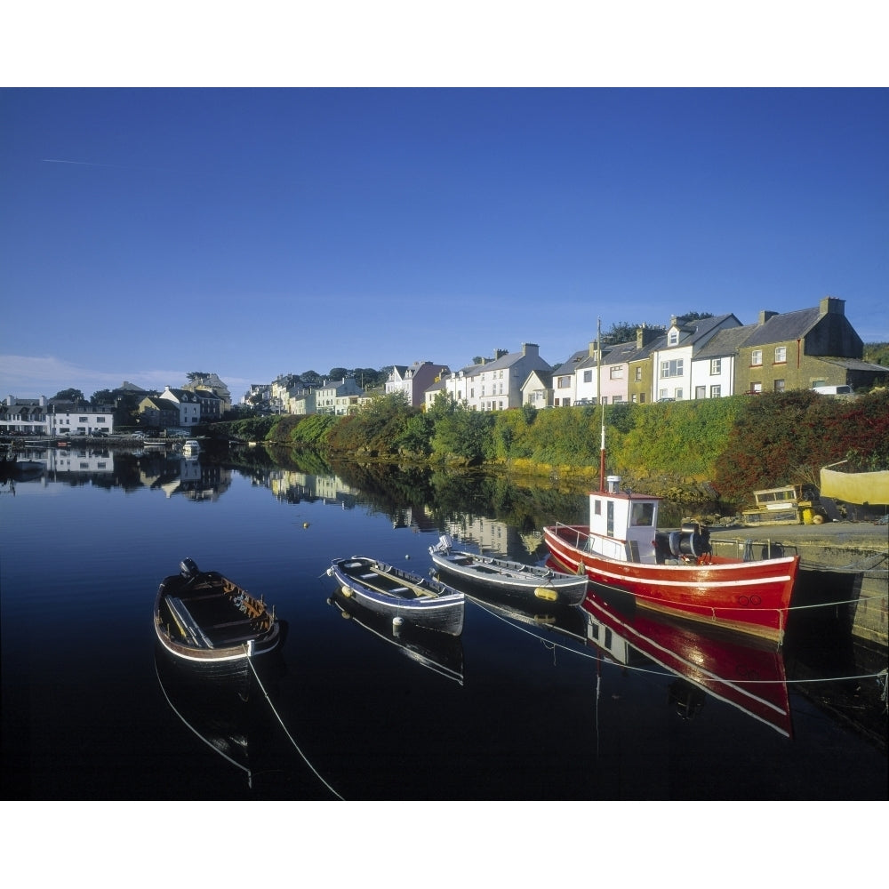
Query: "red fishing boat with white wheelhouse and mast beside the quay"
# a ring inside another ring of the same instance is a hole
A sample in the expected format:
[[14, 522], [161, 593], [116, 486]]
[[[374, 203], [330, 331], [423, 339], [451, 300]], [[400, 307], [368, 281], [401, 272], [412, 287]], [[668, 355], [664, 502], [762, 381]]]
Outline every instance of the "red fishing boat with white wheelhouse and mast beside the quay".
[[757, 554], [752, 543], [735, 556], [715, 555], [708, 529], [698, 523], [659, 531], [661, 499], [621, 491], [620, 477], [605, 477], [604, 407], [599, 479], [589, 495], [589, 525], [543, 530], [563, 571], [632, 593], [645, 608], [783, 640], [797, 555], [780, 546]]

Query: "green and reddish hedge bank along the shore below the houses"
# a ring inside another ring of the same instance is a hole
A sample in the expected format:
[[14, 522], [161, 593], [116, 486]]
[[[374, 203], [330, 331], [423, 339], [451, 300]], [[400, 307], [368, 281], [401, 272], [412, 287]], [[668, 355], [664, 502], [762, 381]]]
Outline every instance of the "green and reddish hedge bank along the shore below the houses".
[[[596, 483], [601, 407], [477, 412], [441, 399], [429, 411], [399, 393], [348, 416], [279, 415], [204, 429], [357, 461], [422, 462], [545, 477], [569, 490]], [[889, 469], [889, 390], [853, 397], [802, 390], [605, 407], [606, 471], [679, 503], [749, 501], [752, 491], [818, 485], [822, 466]]]

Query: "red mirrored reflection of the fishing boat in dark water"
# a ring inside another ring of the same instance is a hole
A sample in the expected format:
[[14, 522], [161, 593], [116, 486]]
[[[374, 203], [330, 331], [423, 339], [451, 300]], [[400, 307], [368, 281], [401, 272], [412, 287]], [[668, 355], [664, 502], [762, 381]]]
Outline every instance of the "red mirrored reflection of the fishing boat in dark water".
[[586, 641], [606, 658], [633, 667], [653, 661], [675, 674], [668, 701], [679, 716], [692, 718], [708, 696], [732, 704], [792, 737], [784, 659], [773, 643], [636, 609], [630, 597], [589, 584], [581, 606]]

